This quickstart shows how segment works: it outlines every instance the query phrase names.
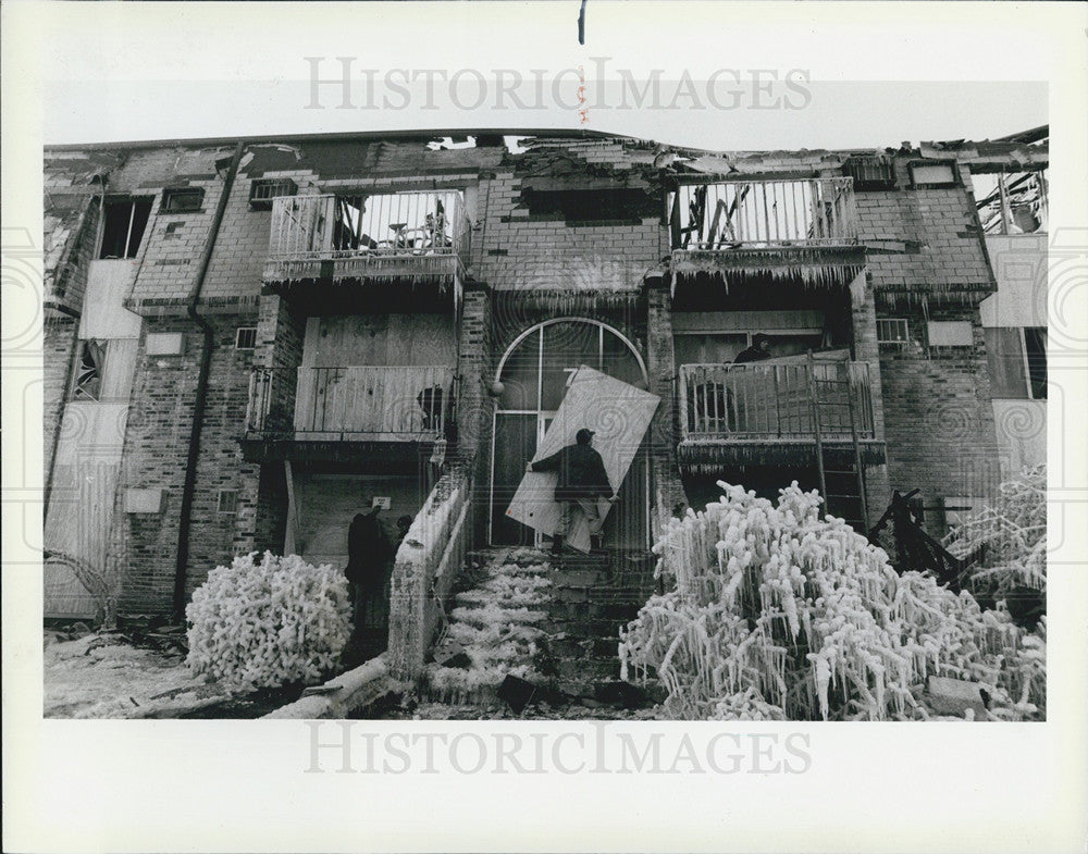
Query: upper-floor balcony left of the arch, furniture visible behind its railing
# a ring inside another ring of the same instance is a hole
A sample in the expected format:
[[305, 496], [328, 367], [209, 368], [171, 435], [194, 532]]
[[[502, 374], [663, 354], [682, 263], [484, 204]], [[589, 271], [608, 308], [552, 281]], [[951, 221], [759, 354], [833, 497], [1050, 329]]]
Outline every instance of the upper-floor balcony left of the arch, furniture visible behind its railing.
[[282, 196], [272, 201], [264, 285], [430, 286], [459, 297], [470, 225], [457, 190]]

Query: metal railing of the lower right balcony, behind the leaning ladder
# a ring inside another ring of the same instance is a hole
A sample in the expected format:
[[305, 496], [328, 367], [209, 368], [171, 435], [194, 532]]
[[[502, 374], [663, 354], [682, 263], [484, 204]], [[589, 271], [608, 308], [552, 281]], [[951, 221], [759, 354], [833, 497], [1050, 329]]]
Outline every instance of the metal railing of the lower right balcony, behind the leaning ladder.
[[[812, 372], [812, 373], [811, 373]], [[815, 436], [812, 392], [820, 407], [825, 441], [850, 438], [850, 407], [836, 381], [850, 381], [857, 435], [873, 438], [873, 398], [866, 362], [680, 366], [683, 440], [802, 440]], [[821, 382], [831, 385], [821, 386]]]

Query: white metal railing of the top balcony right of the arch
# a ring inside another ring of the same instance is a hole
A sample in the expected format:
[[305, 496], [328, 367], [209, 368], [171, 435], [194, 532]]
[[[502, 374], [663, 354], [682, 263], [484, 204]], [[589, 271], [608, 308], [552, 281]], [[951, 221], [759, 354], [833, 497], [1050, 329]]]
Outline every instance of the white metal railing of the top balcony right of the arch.
[[669, 225], [673, 250], [854, 244], [853, 178], [683, 185], [672, 194]]

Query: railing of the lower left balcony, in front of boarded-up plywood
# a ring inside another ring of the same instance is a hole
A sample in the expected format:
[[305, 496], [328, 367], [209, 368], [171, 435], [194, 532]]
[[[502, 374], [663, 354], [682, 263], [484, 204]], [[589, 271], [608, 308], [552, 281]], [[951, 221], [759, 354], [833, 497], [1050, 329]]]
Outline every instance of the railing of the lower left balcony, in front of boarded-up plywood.
[[[310, 441], [411, 441], [444, 436], [453, 413], [454, 371], [446, 366], [299, 368], [294, 418], [271, 369], [249, 382], [248, 432]], [[283, 403], [273, 398], [279, 396]]]

